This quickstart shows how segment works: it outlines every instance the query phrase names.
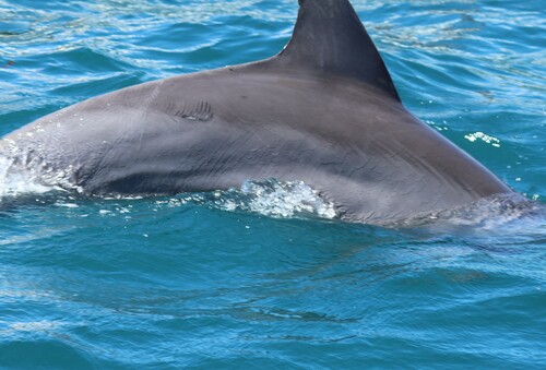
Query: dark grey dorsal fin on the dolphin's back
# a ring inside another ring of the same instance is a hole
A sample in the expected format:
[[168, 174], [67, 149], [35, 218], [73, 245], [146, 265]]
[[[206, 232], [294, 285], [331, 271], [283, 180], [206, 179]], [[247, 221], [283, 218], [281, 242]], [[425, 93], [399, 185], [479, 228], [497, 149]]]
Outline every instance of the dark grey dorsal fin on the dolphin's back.
[[348, 0], [299, 0], [294, 35], [278, 61], [358, 79], [399, 94], [373, 41]]

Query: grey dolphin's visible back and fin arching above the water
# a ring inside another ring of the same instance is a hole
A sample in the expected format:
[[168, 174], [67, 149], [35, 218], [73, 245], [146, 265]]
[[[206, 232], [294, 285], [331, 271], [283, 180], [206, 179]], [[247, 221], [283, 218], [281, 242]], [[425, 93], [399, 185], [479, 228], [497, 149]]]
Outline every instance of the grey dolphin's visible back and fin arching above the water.
[[7, 135], [0, 153], [98, 195], [302, 180], [368, 224], [510, 192], [404, 108], [347, 0], [300, 1], [271, 59], [92, 98]]

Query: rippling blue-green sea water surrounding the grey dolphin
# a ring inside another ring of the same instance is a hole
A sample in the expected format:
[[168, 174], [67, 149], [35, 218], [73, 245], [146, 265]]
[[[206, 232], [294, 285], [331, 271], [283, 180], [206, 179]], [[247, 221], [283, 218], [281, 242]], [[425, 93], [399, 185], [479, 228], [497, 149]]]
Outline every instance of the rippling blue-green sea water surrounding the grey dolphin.
[[[380, 228], [332, 218], [297, 181], [90, 199], [0, 164], [1, 369], [546, 369], [544, 3], [353, 4], [406, 107], [534, 211]], [[0, 135], [273, 56], [296, 14], [296, 0], [0, 0]]]

